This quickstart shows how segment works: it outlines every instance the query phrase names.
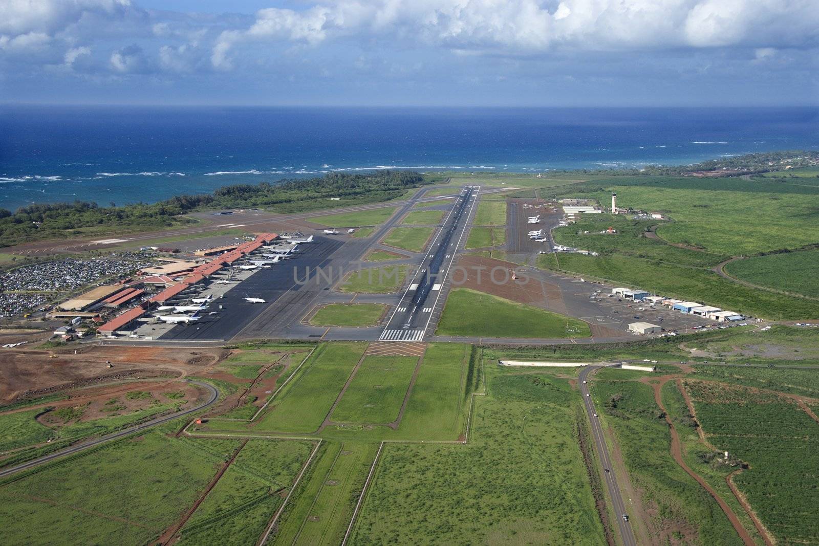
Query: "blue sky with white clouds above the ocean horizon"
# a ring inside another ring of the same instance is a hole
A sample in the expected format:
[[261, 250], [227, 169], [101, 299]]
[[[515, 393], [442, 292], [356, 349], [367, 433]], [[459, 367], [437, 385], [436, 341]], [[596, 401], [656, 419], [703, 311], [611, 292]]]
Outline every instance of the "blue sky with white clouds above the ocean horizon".
[[0, 0], [0, 102], [817, 106], [819, 0]]

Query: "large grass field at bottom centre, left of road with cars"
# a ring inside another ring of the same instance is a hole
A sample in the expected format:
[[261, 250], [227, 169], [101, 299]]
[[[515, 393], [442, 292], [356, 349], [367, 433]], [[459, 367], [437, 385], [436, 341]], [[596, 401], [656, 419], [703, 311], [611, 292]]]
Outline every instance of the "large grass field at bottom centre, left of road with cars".
[[605, 544], [568, 381], [486, 371], [468, 444], [387, 444], [354, 544]]

